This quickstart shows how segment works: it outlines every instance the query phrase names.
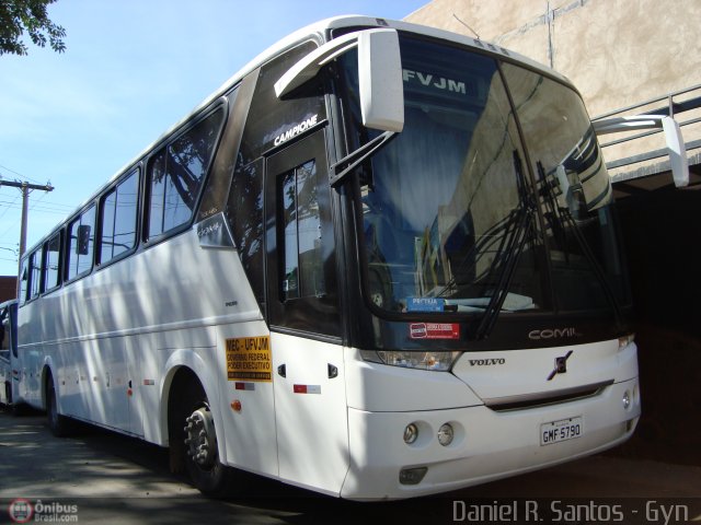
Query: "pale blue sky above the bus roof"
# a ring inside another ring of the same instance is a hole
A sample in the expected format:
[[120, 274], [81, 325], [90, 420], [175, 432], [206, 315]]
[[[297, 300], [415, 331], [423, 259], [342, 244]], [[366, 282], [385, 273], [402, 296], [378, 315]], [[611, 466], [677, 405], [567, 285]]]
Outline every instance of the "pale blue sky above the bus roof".
[[[0, 55], [0, 177], [30, 194], [27, 249], [265, 48], [315, 21], [403, 19], [428, 0], [57, 0], [66, 52]], [[0, 276], [15, 276], [22, 195], [0, 186]]]

